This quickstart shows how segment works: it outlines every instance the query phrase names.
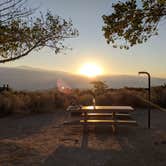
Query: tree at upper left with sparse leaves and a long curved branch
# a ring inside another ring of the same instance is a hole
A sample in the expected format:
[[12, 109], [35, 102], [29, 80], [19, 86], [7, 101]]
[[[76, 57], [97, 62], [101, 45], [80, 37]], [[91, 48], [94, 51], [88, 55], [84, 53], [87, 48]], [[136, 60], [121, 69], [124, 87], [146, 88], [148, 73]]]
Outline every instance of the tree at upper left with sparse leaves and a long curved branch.
[[48, 11], [29, 18], [31, 9], [24, 9], [26, 0], [4, 0], [0, 4], [0, 63], [14, 61], [43, 47], [59, 53], [64, 40], [78, 36], [71, 20]]

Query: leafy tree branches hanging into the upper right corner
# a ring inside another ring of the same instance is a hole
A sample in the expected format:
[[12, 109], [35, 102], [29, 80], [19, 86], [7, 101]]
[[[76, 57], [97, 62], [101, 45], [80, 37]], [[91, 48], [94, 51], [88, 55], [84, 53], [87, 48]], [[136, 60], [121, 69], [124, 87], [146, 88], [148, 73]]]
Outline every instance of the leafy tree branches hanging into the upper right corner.
[[111, 15], [103, 15], [102, 28], [107, 43], [129, 49], [158, 34], [158, 24], [166, 18], [166, 0], [127, 0], [112, 5]]

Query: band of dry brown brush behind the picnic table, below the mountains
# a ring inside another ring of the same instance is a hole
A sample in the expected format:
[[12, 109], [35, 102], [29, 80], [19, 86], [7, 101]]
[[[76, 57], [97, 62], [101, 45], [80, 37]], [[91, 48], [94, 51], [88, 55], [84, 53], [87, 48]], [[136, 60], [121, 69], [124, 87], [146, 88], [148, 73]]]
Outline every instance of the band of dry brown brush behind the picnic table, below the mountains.
[[[147, 92], [141, 88], [108, 89], [102, 94], [95, 95], [97, 105], [131, 105], [145, 107], [145, 103], [137, 96], [147, 98]], [[42, 113], [66, 108], [73, 100], [81, 105], [92, 104], [92, 91], [75, 89], [70, 94], [58, 90], [42, 92], [3, 91], [0, 93], [0, 115], [12, 113]], [[166, 87], [152, 88], [152, 101], [166, 107]]]

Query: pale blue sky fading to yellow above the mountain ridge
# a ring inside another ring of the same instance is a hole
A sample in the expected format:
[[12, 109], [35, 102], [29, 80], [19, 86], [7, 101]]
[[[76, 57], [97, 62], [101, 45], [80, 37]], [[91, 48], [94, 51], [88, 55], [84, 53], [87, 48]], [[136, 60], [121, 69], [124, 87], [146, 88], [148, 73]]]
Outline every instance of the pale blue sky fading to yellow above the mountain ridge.
[[101, 29], [102, 15], [112, 12], [113, 2], [116, 0], [29, 0], [32, 8], [39, 7], [42, 12], [49, 9], [62, 18], [72, 19], [79, 36], [66, 41], [72, 50], [55, 55], [54, 51], [43, 48], [0, 66], [31, 66], [78, 74], [85, 63], [95, 63], [106, 75], [137, 75], [144, 70], [155, 77], [166, 77], [166, 21], [160, 23], [159, 35], [148, 42], [129, 50], [112, 48]]

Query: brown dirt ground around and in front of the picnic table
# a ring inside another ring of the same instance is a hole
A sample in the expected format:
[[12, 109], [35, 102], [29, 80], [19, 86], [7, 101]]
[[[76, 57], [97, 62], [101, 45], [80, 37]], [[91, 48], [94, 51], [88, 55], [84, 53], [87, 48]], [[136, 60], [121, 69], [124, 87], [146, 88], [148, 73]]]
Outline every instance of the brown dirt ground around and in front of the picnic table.
[[65, 111], [0, 118], [0, 166], [165, 166], [166, 113], [132, 114], [137, 126], [66, 126]]

